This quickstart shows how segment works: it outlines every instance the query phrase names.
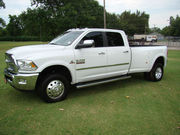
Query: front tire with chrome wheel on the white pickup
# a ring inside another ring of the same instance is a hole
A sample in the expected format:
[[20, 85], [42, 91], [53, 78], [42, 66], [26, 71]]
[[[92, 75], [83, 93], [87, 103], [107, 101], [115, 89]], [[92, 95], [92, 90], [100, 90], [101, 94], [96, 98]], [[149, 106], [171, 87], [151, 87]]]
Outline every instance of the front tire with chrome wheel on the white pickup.
[[60, 74], [49, 74], [41, 80], [38, 87], [38, 94], [48, 103], [62, 101], [67, 97], [70, 84]]

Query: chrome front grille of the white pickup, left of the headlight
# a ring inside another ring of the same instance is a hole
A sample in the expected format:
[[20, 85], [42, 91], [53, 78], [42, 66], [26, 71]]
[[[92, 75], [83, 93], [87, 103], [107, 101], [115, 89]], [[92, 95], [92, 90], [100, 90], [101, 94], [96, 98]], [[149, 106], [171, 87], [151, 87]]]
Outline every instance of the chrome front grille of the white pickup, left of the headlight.
[[7, 70], [11, 73], [16, 73], [17, 72], [17, 66], [15, 64], [15, 59], [12, 57], [12, 54], [5, 54], [5, 61], [7, 64]]

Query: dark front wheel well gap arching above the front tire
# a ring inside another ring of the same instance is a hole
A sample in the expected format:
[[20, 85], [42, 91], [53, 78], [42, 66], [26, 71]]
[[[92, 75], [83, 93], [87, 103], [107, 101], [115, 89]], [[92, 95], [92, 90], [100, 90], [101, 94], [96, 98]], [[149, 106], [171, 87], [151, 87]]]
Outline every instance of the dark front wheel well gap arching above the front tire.
[[38, 76], [37, 79], [37, 83], [36, 83], [36, 88], [38, 86], [38, 84], [41, 82], [41, 80], [48, 74], [53, 74], [53, 73], [57, 73], [57, 74], [62, 74], [65, 77], [67, 77], [67, 79], [69, 80], [69, 82], [72, 81], [72, 77], [71, 77], [71, 73], [68, 70], [67, 67], [65, 66], [60, 66], [60, 65], [55, 65], [55, 66], [50, 66], [45, 68]]

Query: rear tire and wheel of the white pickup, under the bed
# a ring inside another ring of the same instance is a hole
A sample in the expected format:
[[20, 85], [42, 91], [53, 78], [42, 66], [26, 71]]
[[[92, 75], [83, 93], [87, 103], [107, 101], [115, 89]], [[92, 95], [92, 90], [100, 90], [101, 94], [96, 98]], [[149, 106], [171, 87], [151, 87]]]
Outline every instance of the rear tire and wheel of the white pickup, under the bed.
[[162, 79], [163, 74], [164, 74], [163, 65], [161, 63], [157, 63], [153, 66], [151, 71], [145, 73], [144, 76], [147, 80], [157, 82]]

